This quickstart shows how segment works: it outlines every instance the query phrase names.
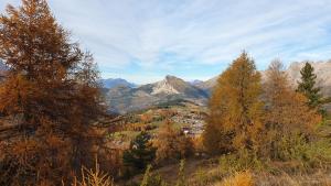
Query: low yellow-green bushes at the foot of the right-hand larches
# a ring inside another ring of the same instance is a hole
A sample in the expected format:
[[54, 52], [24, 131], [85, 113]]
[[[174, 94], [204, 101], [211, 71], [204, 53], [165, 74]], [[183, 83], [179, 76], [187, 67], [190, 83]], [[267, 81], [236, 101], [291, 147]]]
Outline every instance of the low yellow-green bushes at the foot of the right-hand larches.
[[279, 173], [329, 168], [331, 165], [331, 144], [328, 140], [307, 141], [302, 135], [284, 136], [276, 143], [277, 158], [259, 156], [252, 150], [242, 149], [220, 157], [222, 173], [245, 169]]

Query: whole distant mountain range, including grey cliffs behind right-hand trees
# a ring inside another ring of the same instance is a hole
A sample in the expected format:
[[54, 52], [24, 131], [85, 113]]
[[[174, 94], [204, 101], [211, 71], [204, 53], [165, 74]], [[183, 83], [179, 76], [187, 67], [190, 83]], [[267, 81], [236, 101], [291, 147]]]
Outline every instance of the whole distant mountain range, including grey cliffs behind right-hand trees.
[[[290, 83], [296, 86], [300, 78], [300, 69], [305, 63], [292, 63], [287, 69]], [[317, 84], [321, 87], [324, 96], [331, 96], [331, 61], [311, 63], [318, 76]], [[261, 72], [264, 78], [265, 72]], [[117, 86], [105, 89], [106, 101], [113, 112], [125, 113], [146, 109], [149, 107], [164, 105], [167, 102], [188, 100], [205, 106], [209, 96], [216, 85], [218, 76], [209, 80], [185, 81], [174, 76], [166, 76], [163, 80], [132, 86], [135, 84], [126, 80]], [[113, 85], [113, 84], [111, 84]], [[115, 84], [114, 84], [115, 85]], [[330, 106], [329, 106], [330, 107]], [[331, 108], [330, 108], [331, 109]]]

